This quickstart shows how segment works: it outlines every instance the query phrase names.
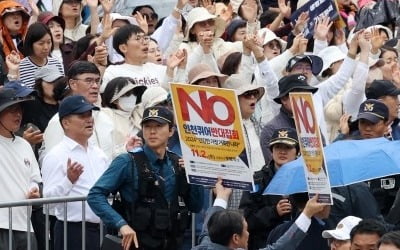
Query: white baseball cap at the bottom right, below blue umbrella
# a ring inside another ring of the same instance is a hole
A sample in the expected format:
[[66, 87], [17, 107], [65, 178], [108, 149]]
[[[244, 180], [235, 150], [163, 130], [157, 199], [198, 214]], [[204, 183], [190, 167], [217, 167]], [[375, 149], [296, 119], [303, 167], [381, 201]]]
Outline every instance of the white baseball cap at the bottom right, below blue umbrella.
[[350, 232], [353, 227], [357, 226], [361, 218], [355, 216], [347, 216], [343, 218], [333, 230], [324, 230], [322, 237], [335, 238], [337, 240], [350, 240]]

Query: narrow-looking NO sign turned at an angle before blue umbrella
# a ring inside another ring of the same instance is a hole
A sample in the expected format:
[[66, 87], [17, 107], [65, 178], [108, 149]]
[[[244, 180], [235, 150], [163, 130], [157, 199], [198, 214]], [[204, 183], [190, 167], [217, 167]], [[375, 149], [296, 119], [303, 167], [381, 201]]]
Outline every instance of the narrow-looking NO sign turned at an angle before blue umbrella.
[[310, 197], [319, 194], [319, 202], [332, 204], [328, 169], [312, 93], [289, 93], [293, 117], [304, 160], [307, 190]]

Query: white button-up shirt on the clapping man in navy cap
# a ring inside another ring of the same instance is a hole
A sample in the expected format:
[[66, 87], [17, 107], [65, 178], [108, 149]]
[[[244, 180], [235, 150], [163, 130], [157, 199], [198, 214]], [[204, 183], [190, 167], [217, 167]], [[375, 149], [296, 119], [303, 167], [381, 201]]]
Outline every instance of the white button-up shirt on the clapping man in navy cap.
[[[83, 166], [83, 173], [75, 183], [67, 177], [67, 161], [78, 162]], [[43, 196], [86, 196], [90, 188], [104, 173], [109, 164], [107, 156], [100, 148], [89, 143], [87, 149], [74, 140], [64, 136], [62, 141], [50, 150], [42, 164]], [[90, 209], [87, 202], [86, 221], [99, 223], [97, 217]], [[57, 219], [64, 220], [64, 204], [57, 204], [55, 215]], [[82, 203], [69, 202], [67, 204], [67, 220], [70, 222], [82, 221]]]

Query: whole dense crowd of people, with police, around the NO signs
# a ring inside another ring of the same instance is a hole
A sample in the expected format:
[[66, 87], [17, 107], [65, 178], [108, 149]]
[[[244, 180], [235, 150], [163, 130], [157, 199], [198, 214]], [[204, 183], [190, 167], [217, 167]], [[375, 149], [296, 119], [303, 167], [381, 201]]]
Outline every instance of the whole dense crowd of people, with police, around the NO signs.
[[[379, 1], [336, 0], [311, 38], [310, 13], [291, 18], [307, 0], [177, 0], [162, 18], [127, 1], [0, 1], [0, 202], [87, 196], [11, 225], [0, 209], [0, 250], [95, 250], [103, 231], [125, 250], [400, 249], [400, 171], [332, 205], [263, 194], [301, 155], [290, 93], [312, 93], [324, 146], [400, 140], [397, 23], [357, 23]], [[255, 190], [188, 183], [171, 82], [235, 91]]]

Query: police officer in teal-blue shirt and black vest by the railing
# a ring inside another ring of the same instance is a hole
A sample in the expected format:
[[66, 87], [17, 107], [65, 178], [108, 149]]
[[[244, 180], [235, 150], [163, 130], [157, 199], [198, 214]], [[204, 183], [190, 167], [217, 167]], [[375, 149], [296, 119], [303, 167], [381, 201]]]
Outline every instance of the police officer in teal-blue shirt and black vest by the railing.
[[[186, 182], [182, 161], [167, 150], [174, 133], [171, 111], [147, 108], [141, 125], [144, 146], [114, 159], [90, 190], [88, 203], [107, 226], [119, 231], [124, 249], [131, 245], [146, 250], [179, 249], [187, 210], [202, 208], [203, 187]], [[107, 201], [116, 192], [122, 199], [119, 213]]]

